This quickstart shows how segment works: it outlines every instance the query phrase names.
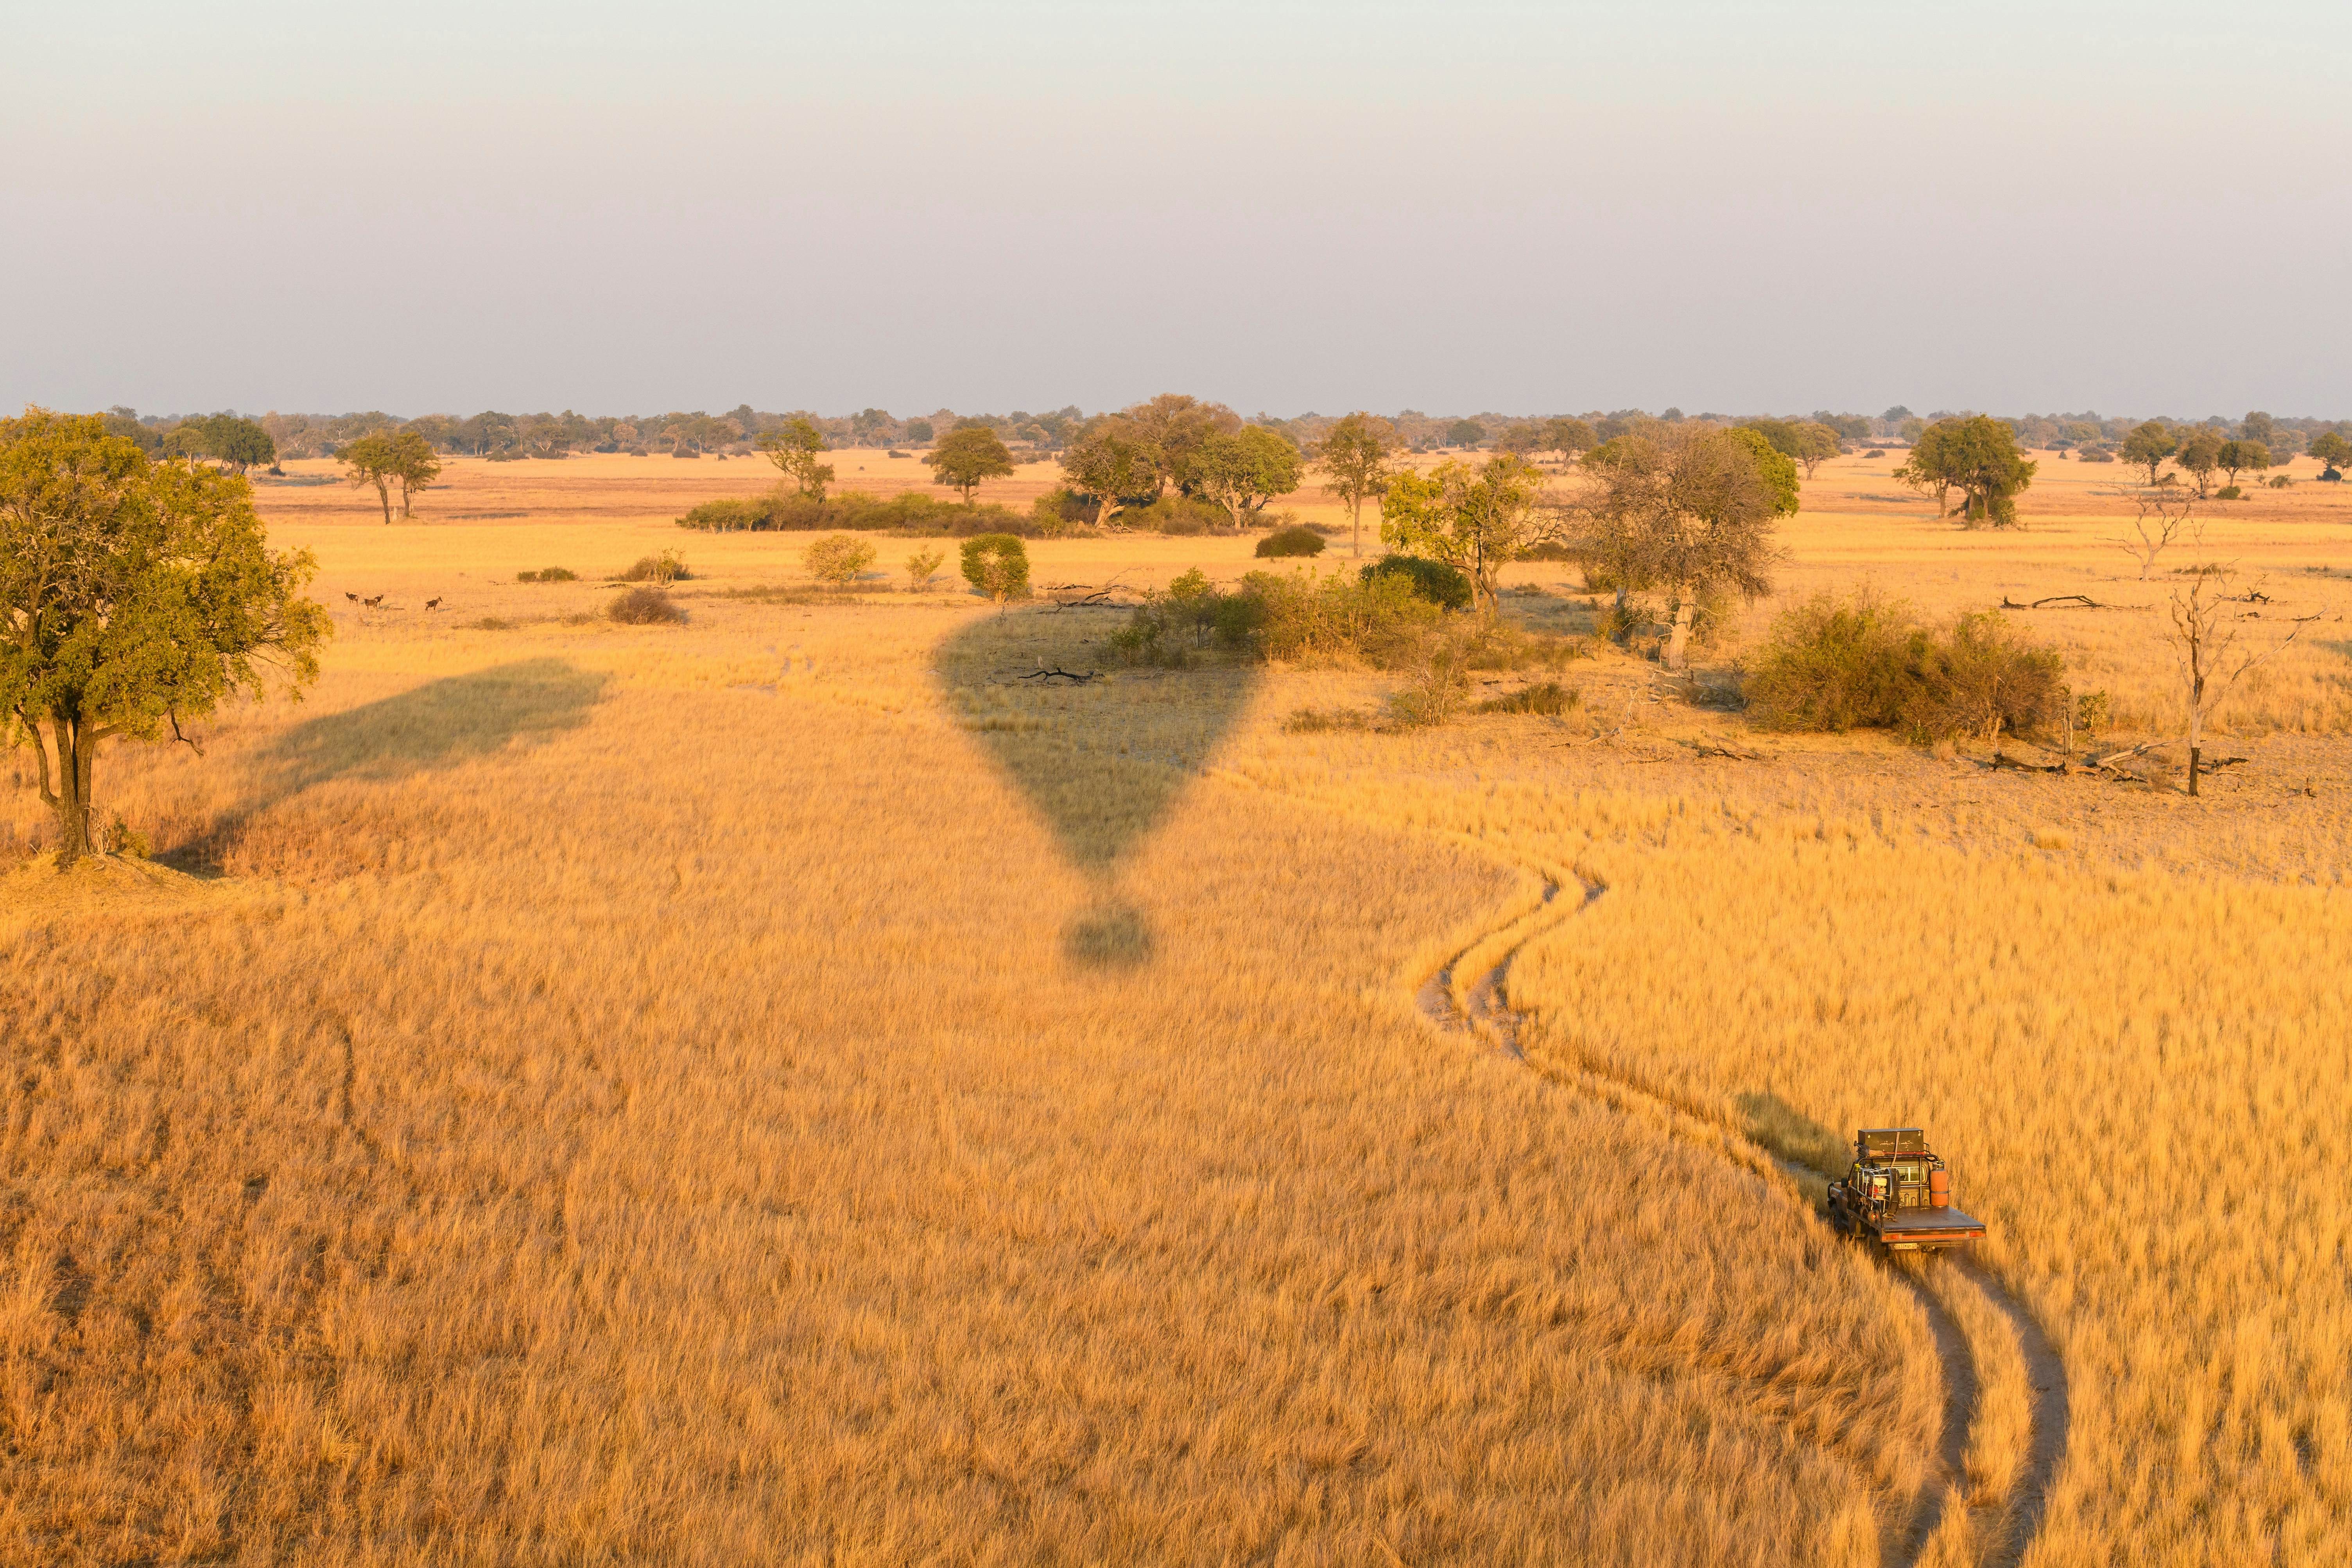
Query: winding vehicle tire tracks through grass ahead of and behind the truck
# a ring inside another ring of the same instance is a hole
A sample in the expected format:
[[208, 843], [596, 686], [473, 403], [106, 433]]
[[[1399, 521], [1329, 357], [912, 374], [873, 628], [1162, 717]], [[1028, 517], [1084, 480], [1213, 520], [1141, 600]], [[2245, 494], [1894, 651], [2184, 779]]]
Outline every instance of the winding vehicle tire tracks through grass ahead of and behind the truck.
[[[1486, 846], [1482, 846], [1486, 849]], [[1491, 853], [1491, 849], [1489, 849]], [[1700, 1143], [1759, 1175], [1778, 1173], [1806, 1201], [1816, 1222], [1825, 1225], [1818, 1208], [1816, 1187], [1825, 1187], [1830, 1173], [1795, 1161], [1778, 1150], [1757, 1143], [1703, 1107], [1682, 1105], [1644, 1084], [1637, 1084], [1590, 1058], [1571, 1067], [1531, 1060], [1519, 1044], [1522, 1016], [1510, 1006], [1510, 966], [1536, 936], [1559, 929], [1566, 919], [1592, 907], [1606, 884], [1569, 872], [1566, 879], [1550, 870], [1517, 865], [1524, 875], [1543, 879], [1541, 900], [1496, 929], [1472, 938], [1439, 964], [1439, 969], [1414, 992], [1414, 1001], [1439, 1030], [1484, 1039], [1496, 1051], [1524, 1063], [1545, 1081], [1604, 1100], [1625, 1114], [1642, 1114], [1663, 1124], [1670, 1133]], [[1562, 903], [1559, 893], [1573, 882], [1578, 898]], [[1900, 1281], [1926, 1314], [1929, 1333], [1936, 1342], [1936, 1359], [1943, 1373], [1943, 1429], [1938, 1434], [1938, 1476], [1924, 1488], [1912, 1514], [1900, 1526], [1900, 1542], [1891, 1542], [1884, 1554], [1891, 1563], [1929, 1561], [1938, 1535], [1952, 1535], [1952, 1544], [1936, 1552], [1947, 1559], [1952, 1549], [1978, 1563], [2018, 1563], [2032, 1547], [2034, 1533], [2049, 1507], [2049, 1488], [2067, 1439], [2067, 1378], [2049, 1335], [2016, 1295], [1994, 1279], [1980, 1262], [1962, 1255], [1922, 1258], [1915, 1265], [1879, 1258], [1879, 1267]], [[1971, 1345], [1959, 1316], [1945, 1302], [1943, 1291], [1973, 1288], [2016, 1333], [2016, 1349], [2025, 1366], [2030, 1436], [2016, 1481], [1992, 1497], [1976, 1500], [1969, 1486], [1969, 1450], [1983, 1413], [1983, 1389], [1978, 1378], [1978, 1349]], [[1952, 1509], [1959, 1509], [1957, 1514]]]

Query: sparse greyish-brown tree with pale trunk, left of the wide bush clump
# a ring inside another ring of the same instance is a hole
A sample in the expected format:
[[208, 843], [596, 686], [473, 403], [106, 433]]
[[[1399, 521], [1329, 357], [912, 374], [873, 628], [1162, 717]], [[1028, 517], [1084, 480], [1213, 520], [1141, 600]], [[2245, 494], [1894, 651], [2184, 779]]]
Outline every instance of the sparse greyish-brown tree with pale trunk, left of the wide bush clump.
[[1651, 425], [1609, 442], [1585, 468], [1599, 487], [1585, 512], [1602, 548], [1675, 595], [1668, 670], [1684, 665], [1700, 597], [1771, 592], [1776, 496], [1736, 433]]

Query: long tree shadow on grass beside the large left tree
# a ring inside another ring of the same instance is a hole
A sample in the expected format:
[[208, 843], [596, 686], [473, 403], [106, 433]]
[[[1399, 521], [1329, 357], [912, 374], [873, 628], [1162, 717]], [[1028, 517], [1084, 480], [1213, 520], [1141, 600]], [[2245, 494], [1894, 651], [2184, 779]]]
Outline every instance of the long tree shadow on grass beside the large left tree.
[[604, 682], [602, 672], [567, 658], [527, 658], [306, 719], [252, 759], [238, 811], [158, 858], [188, 872], [219, 872], [259, 816], [303, 790], [339, 778], [388, 783], [543, 745], [588, 722]]

